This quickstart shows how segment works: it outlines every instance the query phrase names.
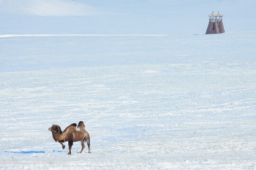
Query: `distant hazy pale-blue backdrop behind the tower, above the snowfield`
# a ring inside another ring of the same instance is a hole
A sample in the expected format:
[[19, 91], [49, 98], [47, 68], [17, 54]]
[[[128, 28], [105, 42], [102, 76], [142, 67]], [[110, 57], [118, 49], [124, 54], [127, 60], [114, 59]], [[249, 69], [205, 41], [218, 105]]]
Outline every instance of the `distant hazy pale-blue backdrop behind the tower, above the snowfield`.
[[[226, 32], [256, 31], [256, 0], [7, 1], [12, 6], [5, 7], [6, 3], [0, 3], [0, 34], [205, 34], [209, 22], [208, 15], [212, 10], [224, 15]], [[44, 6], [35, 4], [39, 2], [63, 2], [64, 5], [57, 5], [58, 10], [67, 11], [67, 15], [37, 16], [31, 12], [24, 15], [24, 12], [18, 11], [19, 7], [27, 10], [29, 5], [28, 10], [37, 6], [40, 6], [41, 11], [50, 10], [49, 6], [44, 9]], [[31, 7], [31, 4], [34, 6]], [[68, 13], [69, 7], [77, 12], [75, 16], [70, 15], [72, 12]], [[87, 14], [91, 15], [80, 15], [86, 7], [91, 10], [87, 11]]]

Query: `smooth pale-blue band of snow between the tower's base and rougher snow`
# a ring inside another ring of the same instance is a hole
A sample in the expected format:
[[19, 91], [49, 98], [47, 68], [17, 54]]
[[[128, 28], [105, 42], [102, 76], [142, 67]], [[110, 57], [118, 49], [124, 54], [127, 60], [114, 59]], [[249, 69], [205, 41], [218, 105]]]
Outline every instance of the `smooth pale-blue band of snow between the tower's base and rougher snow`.
[[168, 36], [6, 37], [1, 38], [0, 71], [145, 64], [254, 63], [255, 38], [256, 32]]

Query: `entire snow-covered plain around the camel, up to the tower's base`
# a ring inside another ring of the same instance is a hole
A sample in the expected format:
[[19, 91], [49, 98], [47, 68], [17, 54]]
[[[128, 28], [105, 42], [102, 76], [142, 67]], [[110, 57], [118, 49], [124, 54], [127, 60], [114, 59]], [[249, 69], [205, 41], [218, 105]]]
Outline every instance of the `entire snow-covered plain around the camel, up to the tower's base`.
[[256, 32], [0, 44], [0, 169], [256, 169]]

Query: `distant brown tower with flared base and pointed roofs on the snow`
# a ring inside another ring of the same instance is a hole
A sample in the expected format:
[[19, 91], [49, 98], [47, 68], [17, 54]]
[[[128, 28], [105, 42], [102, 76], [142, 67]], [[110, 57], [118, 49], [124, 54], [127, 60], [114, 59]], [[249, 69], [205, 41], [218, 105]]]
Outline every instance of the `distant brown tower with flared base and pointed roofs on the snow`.
[[222, 17], [223, 15], [221, 15], [219, 12], [217, 15], [215, 15], [212, 11], [212, 14], [209, 16], [209, 24], [205, 34], [225, 33]]

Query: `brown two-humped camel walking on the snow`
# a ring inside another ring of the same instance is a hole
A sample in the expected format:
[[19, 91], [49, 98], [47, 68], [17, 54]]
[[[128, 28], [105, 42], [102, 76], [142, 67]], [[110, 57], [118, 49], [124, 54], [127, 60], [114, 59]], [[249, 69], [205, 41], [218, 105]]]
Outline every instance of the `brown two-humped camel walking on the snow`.
[[[52, 127], [49, 127], [48, 130], [52, 132], [55, 142], [59, 142], [62, 145], [62, 149], [65, 148], [65, 145], [63, 143], [65, 141], [68, 141], [69, 155], [71, 154], [71, 148], [72, 148], [73, 142], [77, 142], [77, 141], [81, 142], [82, 150], [84, 148], [84, 141], [86, 141], [89, 148], [88, 153], [91, 153], [90, 136], [89, 136], [89, 133], [85, 130], [85, 127], [82, 121], [78, 123], [77, 127], [76, 127], [76, 123], [73, 123], [68, 127], [66, 127], [64, 131], [62, 131], [61, 127], [56, 124], [54, 124]], [[82, 153], [82, 150], [79, 153]]]

